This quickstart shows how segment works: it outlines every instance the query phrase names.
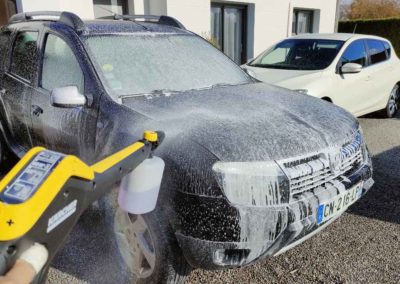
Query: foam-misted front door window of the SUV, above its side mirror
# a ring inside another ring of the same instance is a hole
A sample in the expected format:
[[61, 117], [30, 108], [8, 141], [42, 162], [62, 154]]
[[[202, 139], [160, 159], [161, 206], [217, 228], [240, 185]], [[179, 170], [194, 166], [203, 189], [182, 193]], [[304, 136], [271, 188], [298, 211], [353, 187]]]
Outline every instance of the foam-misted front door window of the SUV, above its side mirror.
[[58, 36], [48, 34], [43, 55], [42, 88], [77, 86], [84, 91], [82, 69], [69, 45]]

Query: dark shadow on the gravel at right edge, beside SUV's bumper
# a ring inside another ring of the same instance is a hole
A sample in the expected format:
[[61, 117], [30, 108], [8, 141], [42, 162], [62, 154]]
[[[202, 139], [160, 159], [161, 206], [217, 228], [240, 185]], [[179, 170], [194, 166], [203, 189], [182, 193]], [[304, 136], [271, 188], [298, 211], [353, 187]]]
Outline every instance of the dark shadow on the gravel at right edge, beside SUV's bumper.
[[372, 157], [372, 162], [375, 185], [347, 212], [400, 224], [400, 146]]

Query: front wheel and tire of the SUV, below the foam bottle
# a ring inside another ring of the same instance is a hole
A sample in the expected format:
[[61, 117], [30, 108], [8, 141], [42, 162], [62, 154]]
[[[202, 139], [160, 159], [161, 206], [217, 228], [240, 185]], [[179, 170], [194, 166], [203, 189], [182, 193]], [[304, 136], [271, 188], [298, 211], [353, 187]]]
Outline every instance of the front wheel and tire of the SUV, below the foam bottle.
[[117, 209], [114, 231], [134, 283], [184, 283], [191, 267], [185, 260], [166, 214], [144, 215]]

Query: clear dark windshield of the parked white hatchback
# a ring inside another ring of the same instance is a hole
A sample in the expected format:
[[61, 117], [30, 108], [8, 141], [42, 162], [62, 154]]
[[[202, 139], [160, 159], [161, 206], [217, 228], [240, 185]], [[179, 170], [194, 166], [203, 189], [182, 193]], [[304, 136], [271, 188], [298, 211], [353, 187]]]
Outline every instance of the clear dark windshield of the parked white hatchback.
[[322, 39], [288, 39], [267, 50], [250, 66], [288, 69], [322, 70], [335, 59], [344, 42]]

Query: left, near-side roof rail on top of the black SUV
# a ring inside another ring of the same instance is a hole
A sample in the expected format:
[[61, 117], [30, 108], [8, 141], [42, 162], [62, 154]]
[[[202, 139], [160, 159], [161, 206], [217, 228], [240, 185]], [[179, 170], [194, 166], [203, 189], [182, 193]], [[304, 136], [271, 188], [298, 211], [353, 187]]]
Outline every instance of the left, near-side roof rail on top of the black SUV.
[[57, 21], [63, 23], [76, 32], [81, 33], [85, 28], [85, 24], [79, 16], [71, 12], [58, 12], [58, 11], [38, 11], [38, 12], [25, 12], [12, 16], [8, 23], [21, 23], [37, 20]]

